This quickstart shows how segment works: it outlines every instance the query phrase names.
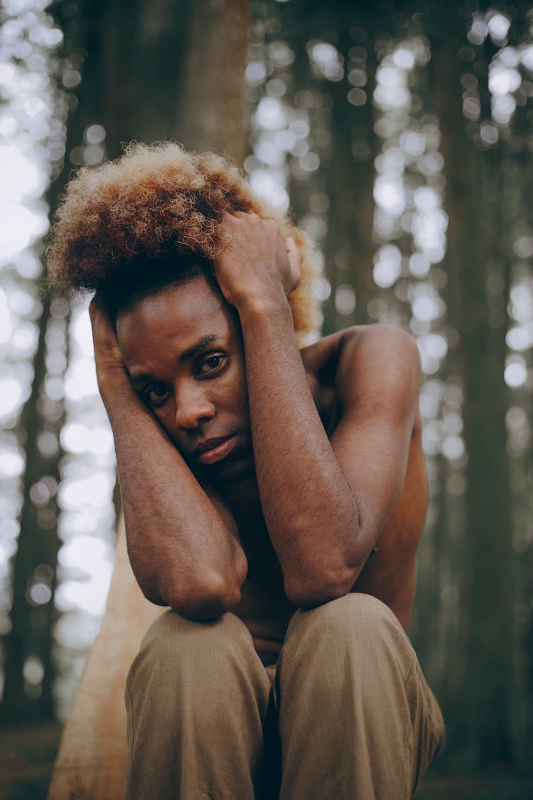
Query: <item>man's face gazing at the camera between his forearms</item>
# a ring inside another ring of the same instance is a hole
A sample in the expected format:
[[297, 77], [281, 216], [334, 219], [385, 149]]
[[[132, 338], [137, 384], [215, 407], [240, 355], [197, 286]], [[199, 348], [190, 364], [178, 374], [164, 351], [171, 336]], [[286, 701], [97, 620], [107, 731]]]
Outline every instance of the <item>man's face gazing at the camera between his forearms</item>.
[[253, 467], [241, 330], [204, 278], [166, 286], [117, 318], [133, 386], [198, 476], [234, 482]]

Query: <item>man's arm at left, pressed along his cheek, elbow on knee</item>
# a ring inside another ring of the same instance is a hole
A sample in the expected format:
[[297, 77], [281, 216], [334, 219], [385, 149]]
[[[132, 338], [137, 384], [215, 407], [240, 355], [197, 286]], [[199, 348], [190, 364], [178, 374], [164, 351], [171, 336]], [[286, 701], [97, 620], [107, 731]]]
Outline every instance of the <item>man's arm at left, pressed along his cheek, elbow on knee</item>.
[[113, 326], [90, 307], [98, 386], [117, 452], [129, 558], [146, 598], [185, 617], [237, 605], [247, 563], [231, 514], [208, 497], [129, 382]]

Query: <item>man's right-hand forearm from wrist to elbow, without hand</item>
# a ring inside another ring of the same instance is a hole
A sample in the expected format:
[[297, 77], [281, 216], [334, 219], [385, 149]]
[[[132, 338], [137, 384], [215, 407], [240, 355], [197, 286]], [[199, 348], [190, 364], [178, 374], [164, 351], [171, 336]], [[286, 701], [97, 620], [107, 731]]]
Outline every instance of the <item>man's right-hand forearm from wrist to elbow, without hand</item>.
[[343, 594], [358, 566], [358, 508], [308, 388], [288, 302], [251, 298], [238, 310], [257, 481], [285, 588], [300, 604]]

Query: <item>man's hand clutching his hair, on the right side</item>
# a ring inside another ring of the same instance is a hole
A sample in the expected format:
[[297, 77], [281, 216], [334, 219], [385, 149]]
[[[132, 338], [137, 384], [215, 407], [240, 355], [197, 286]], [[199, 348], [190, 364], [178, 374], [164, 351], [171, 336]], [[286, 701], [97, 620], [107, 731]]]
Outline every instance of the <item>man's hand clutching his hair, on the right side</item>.
[[225, 214], [231, 242], [213, 262], [222, 294], [237, 310], [243, 302], [284, 299], [300, 282], [300, 253], [277, 222], [257, 214]]

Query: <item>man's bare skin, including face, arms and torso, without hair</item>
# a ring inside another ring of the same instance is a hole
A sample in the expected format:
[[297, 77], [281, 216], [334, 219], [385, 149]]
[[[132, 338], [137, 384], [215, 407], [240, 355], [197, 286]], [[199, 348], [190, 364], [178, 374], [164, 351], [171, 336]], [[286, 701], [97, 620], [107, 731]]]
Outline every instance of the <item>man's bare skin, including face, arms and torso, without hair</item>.
[[265, 663], [297, 607], [349, 591], [407, 629], [427, 505], [416, 344], [358, 326], [298, 350], [292, 240], [250, 214], [225, 224], [221, 294], [165, 287], [116, 334], [90, 310], [137, 581], [189, 618], [233, 611]]

